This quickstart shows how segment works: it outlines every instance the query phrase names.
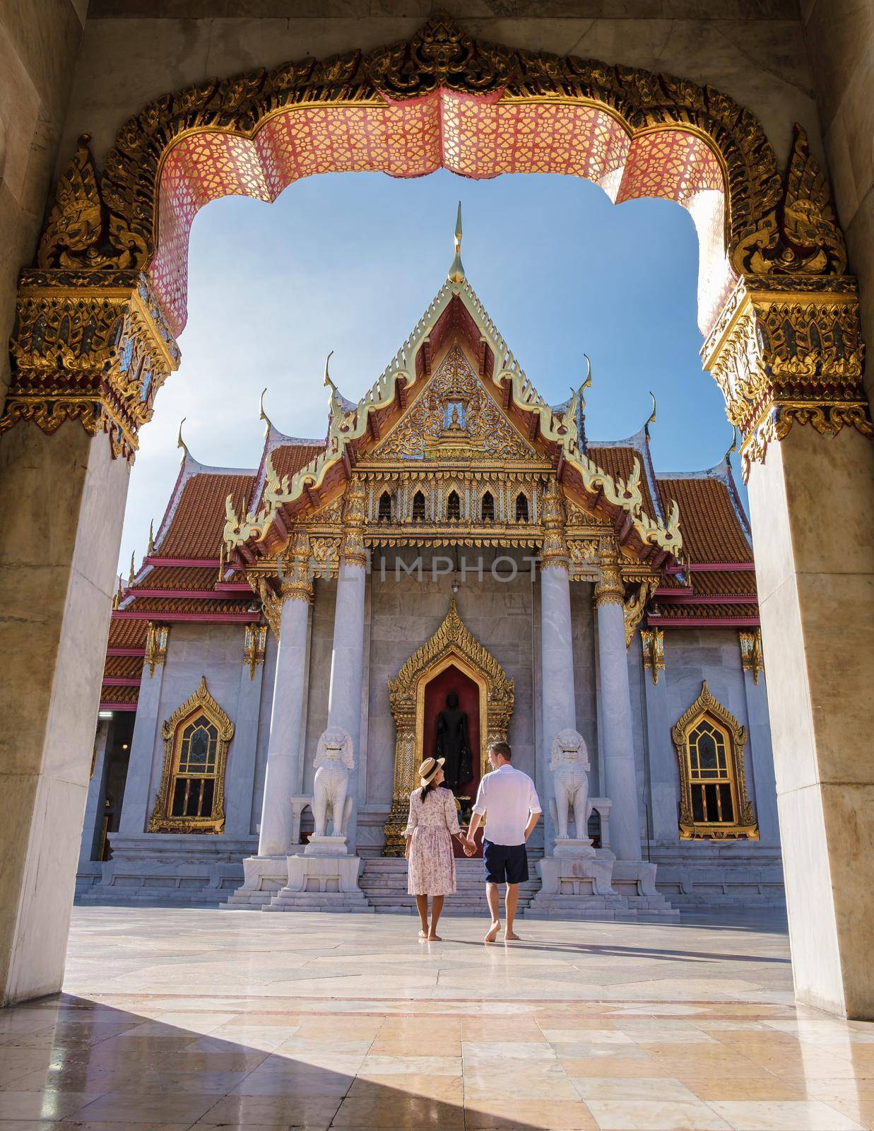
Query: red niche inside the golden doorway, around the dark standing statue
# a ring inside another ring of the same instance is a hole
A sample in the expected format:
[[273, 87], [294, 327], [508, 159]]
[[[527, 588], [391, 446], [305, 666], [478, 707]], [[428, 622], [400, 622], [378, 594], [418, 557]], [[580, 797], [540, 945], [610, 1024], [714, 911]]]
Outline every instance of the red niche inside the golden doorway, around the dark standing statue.
[[[485, 751], [479, 740], [479, 699], [484, 688], [467, 675], [456, 662], [423, 681], [423, 727], [422, 757], [445, 758], [445, 785], [451, 788], [460, 805], [459, 822], [470, 821], [470, 809], [476, 800], [479, 779], [485, 772]], [[457, 697], [457, 707], [451, 706], [451, 697]], [[452, 714], [460, 717], [459, 734], [455, 729]], [[449, 725], [447, 725], [447, 720]], [[465, 749], [466, 748], [466, 749]], [[458, 769], [456, 769], [456, 765]], [[457, 840], [452, 841], [456, 856], [464, 856]], [[476, 852], [482, 856], [482, 848]]]

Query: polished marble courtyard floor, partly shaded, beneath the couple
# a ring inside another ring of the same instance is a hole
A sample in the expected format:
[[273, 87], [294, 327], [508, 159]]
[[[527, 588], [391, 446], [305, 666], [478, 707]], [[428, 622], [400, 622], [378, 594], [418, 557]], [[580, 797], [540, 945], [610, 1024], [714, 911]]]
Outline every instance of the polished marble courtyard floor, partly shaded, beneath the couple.
[[796, 1007], [779, 918], [73, 914], [0, 1013], [0, 1131], [874, 1128], [874, 1025]]

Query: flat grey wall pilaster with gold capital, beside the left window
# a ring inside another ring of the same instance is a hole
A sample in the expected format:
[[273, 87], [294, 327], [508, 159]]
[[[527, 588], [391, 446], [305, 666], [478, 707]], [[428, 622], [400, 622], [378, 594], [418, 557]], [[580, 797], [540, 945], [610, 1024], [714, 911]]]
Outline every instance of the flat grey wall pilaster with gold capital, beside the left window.
[[228, 837], [248, 837], [251, 830], [267, 632], [266, 624], [246, 624], [243, 638], [234, 741], [225, 772], [225, 836]]

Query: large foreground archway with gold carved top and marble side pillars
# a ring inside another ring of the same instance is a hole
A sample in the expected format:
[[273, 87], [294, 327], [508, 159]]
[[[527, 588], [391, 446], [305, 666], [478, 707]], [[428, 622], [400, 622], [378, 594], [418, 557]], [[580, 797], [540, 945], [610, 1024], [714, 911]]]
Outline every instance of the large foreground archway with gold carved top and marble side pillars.
[[[67, 920], [46, 930], [43, 908], [72, 892], [102, 658], [94, 629], [113, 589], [126, 461], [179, 362], [193, 215], [228, 192], [272, 199], [314, 172], [408, 176], [441, 165], [473, 176], [561, 171], [615, 200], [660, 196], [693, 215], [702, 356], [743, 437], [762, 636], [778, 673], [769, 688], [796, 987], [805, 1001], [871, 1016], [874, 883], [859, 860], [871, 860], [862, 846], [874, 841], [874, 818], [858, 743], [871, 615], [858, 579], [871, 576], [872, 426], [856, 285], [827, 181], [803, 130], [781, 175], [754, 115], [710, 87], [479, 43], [444, 17], [369, 54], [167, 95], [122, 126], [102, 171], [84, 138], [61, 179], [37, 266], [21, 276], [0, 423], [0, 527], [15, 539], [7, 654], [35, 655], [44, 676], [34, 688], [20, 665], [0, 700], [11, 763], [28, 783], [18, 803], [27, 834], [11, 830], [7, 853], [18, 900], [0, 936], [5, 1000], [60, 982]], [[512, 382], [512, 356], [500, 364]], [[387, 370], [384, 397], [415, 379], [400, 371]], [[338, 431], [338, 458], [380, 403]], [[323, 470], [289, 490], [309, 490]], [[49, 485], [45, 520], [23, 523], [23, 506]], [[24, 639], [21, 603], [40, 608]], [[41, 866], [50, 831], [66, 877]], [[37, 933], [45, 953], [32, 962], [21, 939]]]

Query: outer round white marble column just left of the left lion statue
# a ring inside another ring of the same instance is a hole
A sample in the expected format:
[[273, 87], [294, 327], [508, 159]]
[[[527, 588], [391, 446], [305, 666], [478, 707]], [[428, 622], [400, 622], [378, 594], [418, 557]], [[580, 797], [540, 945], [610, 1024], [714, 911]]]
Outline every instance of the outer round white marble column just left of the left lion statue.
[[311, 590], [284, 592], [276, 654], [258, 856], [286, 856], [292, 845], [292, 796], [303, 784], [303, 696]]

